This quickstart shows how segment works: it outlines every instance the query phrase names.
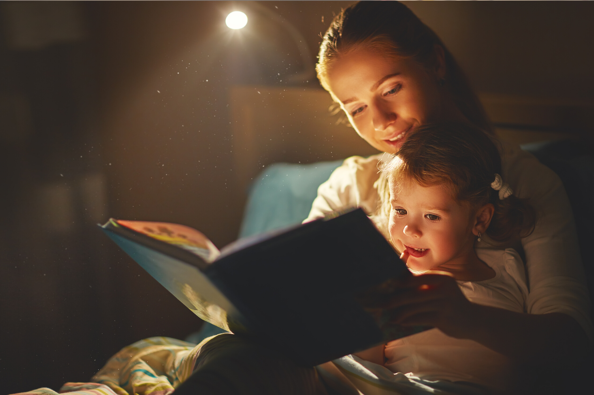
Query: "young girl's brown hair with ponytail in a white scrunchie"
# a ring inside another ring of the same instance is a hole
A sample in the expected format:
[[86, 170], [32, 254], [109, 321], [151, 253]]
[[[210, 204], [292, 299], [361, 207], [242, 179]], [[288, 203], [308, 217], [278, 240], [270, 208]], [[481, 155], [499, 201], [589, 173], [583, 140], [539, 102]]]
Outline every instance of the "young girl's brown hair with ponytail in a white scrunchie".
[[[536, 214], [527, 199], [499, 199], [491, 187], [495, 173], [501, 174], [501, 157], [494, 138], [481, 129], [455, 122], [419, 126], [383, 171], [392, 189], [406, 181], [444, 185], [457, 202], [472, 208], [492, 203], [495, 213], [486, 234], [494, 241], [526, 237], [534, 230]], [[389, 205], [384, 202], [384, 211]]]

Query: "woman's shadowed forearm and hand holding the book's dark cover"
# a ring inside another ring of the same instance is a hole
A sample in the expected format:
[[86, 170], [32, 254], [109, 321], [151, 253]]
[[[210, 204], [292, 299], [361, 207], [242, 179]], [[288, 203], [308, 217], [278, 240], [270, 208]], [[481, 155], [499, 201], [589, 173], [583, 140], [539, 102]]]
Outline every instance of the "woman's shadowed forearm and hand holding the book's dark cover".
[[569, 364], [585, 355], [589, 339], [563, 313], [526, 314], [470, 302], [450, 276], [410, 278], [409, 291], [391, 301], [394, 322], [431, 325], [446, 335], [478, 343], [517, 362]]

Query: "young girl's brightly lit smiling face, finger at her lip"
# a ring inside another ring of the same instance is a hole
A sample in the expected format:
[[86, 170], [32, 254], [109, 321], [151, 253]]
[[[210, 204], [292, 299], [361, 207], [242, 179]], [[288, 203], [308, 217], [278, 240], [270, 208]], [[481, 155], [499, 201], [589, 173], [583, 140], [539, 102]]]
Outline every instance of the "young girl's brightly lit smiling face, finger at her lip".
[[422, 187], [414, 181], [390, 186], [390, 238], [410, 254], [407, 265], [418, 272], [465, 262], [474, 247], [473, 212], [443, 185]]

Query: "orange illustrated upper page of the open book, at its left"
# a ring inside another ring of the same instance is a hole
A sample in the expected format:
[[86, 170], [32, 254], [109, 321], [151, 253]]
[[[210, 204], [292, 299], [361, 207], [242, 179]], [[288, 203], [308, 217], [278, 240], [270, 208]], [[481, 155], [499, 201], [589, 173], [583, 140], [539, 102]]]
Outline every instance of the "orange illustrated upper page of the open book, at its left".
[[184, 225], [122, 219], [117, 219], [116, 222], [135, 232], [188, 250], [208, 263], [212, 263], [220, 255], [217, 247], [204, 234]]

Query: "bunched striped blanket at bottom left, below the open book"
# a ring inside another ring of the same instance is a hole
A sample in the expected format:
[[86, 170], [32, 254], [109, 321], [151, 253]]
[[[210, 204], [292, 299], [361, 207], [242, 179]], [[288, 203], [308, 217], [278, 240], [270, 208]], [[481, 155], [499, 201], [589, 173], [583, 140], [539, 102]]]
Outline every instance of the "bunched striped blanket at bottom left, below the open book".
[[[60, 394], [68, 395], [168, 395], [192, 374], [199, 345], [150, 337], [121, 349], [91, 378], [92, 383], [66, 383]], [[50, 388], [37, 388], [15, 395], [58, 395]]]

